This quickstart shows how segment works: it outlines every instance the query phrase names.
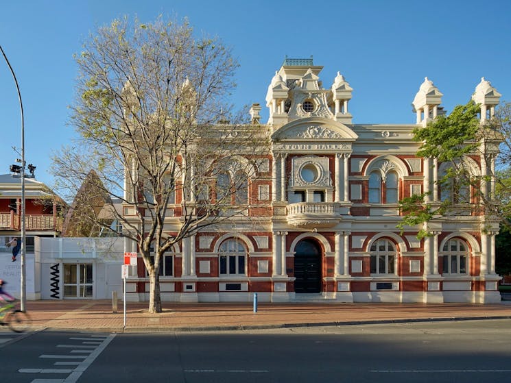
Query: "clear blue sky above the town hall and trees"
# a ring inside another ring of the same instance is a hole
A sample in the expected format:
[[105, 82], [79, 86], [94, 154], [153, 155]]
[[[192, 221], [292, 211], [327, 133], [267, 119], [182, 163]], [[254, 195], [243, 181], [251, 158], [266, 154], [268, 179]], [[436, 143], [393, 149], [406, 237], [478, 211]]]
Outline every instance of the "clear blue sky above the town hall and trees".
[[[25, 159], [52, 186], [51, 156], [71, 143], [73, 53], [89, 32], [123, 15], [153, 21], [187, 16], [197, 32], [222, 38], [241, 67], [233, 102], [258, 102], [287, 55], [340, 71], [353, 87], [353, 123], [415, 123], [411, 103], [431, 79], [449, 111], [466, 103], [482, 76], [511, 101], [511, 1], [93, 0], [2, 1], [0, 45], [16, 73], [25, 112]], [[21, 119], [14, 81], [0, 60], [0, 173], [18, 155]]]

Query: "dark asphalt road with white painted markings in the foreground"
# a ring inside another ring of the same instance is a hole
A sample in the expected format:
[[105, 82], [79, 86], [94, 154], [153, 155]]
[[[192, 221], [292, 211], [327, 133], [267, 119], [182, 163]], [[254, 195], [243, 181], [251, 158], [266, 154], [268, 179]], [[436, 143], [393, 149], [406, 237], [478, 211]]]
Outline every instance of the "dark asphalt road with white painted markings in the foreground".
[[[10, 336], [12, 340], [7, 340]], [[511, 382], [511, 320], [0, 334], [3, 382]]]

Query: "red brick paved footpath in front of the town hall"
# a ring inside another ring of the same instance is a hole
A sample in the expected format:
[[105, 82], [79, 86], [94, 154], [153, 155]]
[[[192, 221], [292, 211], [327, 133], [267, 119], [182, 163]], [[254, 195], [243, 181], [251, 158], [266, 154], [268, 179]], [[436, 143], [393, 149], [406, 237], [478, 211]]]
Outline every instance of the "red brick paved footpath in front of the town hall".
[[182, 304], [163, 302], [163, 313], [147, 312], [148, 302], [128, 302], [123, 328], [123, 302], [112, 312], [112, 300], [27, 301], [32, 328], [148, 332], [241, 330], [303, 325], [341, 325], [407, 321], [511, 319], [511, 301], [499, 304]]

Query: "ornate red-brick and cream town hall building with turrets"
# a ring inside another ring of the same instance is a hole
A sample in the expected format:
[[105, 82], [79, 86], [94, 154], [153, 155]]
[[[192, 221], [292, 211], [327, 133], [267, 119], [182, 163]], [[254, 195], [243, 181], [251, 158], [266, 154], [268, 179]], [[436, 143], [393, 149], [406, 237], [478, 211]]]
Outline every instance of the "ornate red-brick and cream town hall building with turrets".
[[[257, 293], [269, 302], [500, 301], [498, 221], [468, 209], [403, 233], [396, 228], [403, 197], [428, 193], [433, 205], [447, 197], [438, 180], [448, 164], [416, 156], [420, 144], [412, 139], [416, 127], [443, 112], [440, 90], [427, 77], [420, 84], [415, 123], [354, 124], [353, 88], [340, 73], [323, 87], [321, 70], [311, 58], [286, 58], [268, 86], [267, 123], [261, 106], [252, 105], [252, 123], [268, 130], [271, 152], [254, 164], [257, 177], [243, 191], [254, 201], [249, 217], [184, 238], [165, 255], [162, 300], [250, 301]], [[481, 79], [472, 99], [482, 121], [499, 97]], [[485, 150], [496, 154], [498, 143]], [[495, 162], [486, 158], [470, 160], [490, 195], [495, 183], [484, 176]], [[168, 219], [179, 225], [178, 217]], [[418, 239], [421, 229], [429, 236]], [[136, 245], [125, 240], [124, 249]], [[149, 299], [143, 262], [131, 271], [127, 292], [131, 301]]]

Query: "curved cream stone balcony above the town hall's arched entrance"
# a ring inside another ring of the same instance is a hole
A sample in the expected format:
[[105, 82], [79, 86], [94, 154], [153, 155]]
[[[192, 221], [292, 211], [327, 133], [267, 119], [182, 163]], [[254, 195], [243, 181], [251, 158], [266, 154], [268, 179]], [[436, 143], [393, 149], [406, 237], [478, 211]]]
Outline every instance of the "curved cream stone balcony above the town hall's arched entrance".
[[339, 203], [298, 202], [286, 206], [289, 225], [296, 227], [333, 227], [341, 221]]

